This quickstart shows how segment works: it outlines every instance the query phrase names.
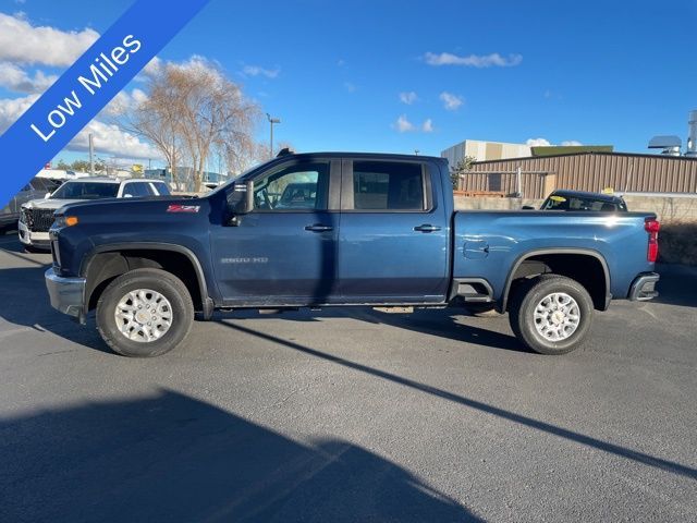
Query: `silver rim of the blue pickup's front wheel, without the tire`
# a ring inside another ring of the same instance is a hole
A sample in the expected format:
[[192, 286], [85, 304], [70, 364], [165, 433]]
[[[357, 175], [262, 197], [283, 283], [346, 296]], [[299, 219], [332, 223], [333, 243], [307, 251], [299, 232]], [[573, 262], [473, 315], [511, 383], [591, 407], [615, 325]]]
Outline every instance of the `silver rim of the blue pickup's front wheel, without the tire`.
[[159, 292], [136, 289], [119, 301], [114, 319], [117, 328], [127, 339], [147, 343], [159, 340], [170, 330], [172, 305]]

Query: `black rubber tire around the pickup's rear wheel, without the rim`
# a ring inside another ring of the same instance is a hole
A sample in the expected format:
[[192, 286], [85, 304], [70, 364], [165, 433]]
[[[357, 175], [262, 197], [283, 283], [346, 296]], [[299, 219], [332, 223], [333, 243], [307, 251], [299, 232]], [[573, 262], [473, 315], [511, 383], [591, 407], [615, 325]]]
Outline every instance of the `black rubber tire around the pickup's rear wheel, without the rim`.
[[[561, 341], [546, 338], [536, 327], [535, 309], [552, 293], [564, 293], [573, 297], [579, 311], [576, 330]], [[566, 354], [584, 343], [592, 324], [592, 300], [580, 283], [564, 276], [543, 275], [517, 289], [509, 308], [509, 320], [516, 338], [528, 349], [540, 354]]]

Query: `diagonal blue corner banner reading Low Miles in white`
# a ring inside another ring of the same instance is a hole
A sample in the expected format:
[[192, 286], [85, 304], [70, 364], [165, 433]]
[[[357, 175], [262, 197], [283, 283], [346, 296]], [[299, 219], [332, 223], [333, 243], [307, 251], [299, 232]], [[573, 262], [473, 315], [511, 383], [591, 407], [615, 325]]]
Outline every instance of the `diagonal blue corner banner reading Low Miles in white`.
[[0, 207], [58, 155], [206, 3], [208, 0], [137, 0], [109, 27], [0, 136]]

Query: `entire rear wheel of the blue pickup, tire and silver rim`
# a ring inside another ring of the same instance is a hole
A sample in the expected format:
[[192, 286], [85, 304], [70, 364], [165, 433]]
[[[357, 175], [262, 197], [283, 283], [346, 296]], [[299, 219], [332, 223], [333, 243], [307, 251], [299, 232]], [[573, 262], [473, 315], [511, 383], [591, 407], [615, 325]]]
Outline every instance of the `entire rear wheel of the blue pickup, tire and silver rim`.
[[540, 354], [566, 354], [583, 344], [592, 313], [592, 300], [580, 283], [543, 275], [517, 290], [509, 318], [527, 348]]

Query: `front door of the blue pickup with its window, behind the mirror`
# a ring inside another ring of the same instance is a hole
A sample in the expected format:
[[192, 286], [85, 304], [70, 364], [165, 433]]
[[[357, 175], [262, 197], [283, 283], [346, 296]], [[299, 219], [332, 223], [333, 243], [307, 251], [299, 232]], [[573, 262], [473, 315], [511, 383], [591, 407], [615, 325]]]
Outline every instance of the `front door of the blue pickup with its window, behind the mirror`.
[[[337, 171], [339, 171], [339, 162]], [[212, 232], [228, 306], [326, 303], [334, 292], [339, 223], [328, 210], [329, 160], [290, 160], [254, 180], [254, 210]]]

